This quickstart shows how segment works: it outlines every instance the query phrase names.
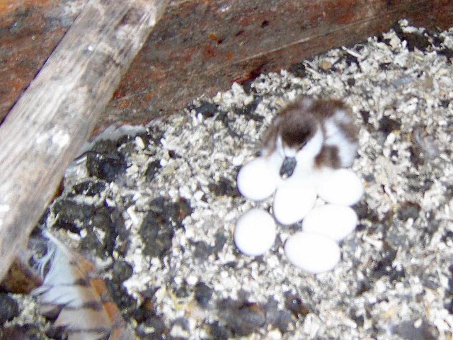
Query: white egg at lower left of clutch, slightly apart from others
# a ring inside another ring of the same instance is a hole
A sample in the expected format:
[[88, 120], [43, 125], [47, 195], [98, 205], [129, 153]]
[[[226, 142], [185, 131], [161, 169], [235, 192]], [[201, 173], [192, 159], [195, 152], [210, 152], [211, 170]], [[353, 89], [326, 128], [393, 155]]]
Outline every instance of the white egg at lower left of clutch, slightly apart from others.
[[239, 217], [234, 229], [234, 243], [248, 256], [260, 256], [275, 242], [275, 222], [264, 210], [251, 209]]

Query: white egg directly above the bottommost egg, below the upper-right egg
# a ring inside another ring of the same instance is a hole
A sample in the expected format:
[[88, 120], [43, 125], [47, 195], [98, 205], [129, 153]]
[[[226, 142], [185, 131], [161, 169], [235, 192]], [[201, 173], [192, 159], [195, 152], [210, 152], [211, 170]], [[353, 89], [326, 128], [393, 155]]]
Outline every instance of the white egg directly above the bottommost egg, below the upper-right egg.
[[357, 214], [346, 205], [326, 204], [312, 209], [302, 221], [304, 232], [324, 235], [336, 242], [344, 239], [357, 225]]

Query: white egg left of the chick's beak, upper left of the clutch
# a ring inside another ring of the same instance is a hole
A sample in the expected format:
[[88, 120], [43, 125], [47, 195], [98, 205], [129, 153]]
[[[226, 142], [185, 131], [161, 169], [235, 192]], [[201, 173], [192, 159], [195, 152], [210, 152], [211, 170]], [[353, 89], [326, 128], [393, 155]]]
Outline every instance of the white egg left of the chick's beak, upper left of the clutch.
[[277, 188], [278, 173], [269, 159], [257, 157], [239, 170], [237, 186], [239, 192], [249, 200], [264, 200]]

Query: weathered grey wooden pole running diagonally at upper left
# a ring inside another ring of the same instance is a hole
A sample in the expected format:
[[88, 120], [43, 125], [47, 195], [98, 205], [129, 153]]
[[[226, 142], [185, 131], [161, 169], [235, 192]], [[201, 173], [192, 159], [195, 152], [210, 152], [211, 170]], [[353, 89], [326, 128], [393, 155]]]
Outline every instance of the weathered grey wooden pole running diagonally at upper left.
[[0, 125], [0, 279], [166, 0], [91, 0]]

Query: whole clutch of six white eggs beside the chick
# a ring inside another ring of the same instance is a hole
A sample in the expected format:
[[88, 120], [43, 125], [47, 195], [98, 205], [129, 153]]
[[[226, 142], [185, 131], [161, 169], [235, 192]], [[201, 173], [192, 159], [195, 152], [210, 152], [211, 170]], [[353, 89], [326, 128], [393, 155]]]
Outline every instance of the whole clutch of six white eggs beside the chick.
[[[350, 169], [323, 169], [313, 174], [279, 176], [280, 162], [257, 157], [237, 177], [239, 192], [250, 200], [265, 200], [274, 193], [273, 214], [281, 225], [302, 221], [302, 231], [285, 242], [289, 261], [309, 273], [330, 271], [340, 261], [338, 242], [357, 225], [355, 205], [363, 195], [359, 177]], [[325, 204], [319, 205], [317, 198]], [[275, 220], [269, 212], [253, 208], [236, 222], [234, 242], [248, 256], [265, 254], [275, 242]]]

